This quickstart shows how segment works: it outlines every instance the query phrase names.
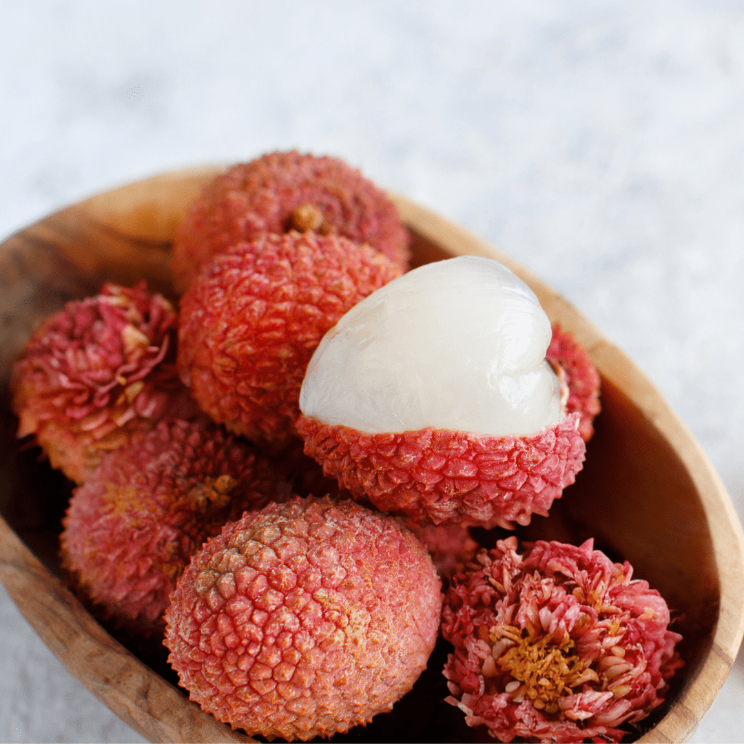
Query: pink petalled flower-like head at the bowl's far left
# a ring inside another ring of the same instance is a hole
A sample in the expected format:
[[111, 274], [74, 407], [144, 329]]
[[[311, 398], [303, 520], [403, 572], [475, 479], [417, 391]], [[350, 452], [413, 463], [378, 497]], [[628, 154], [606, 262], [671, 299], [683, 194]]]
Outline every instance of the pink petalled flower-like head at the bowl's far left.
[[18, 436], [83, 483], [132, 434], [197, 408], [176, 372], [176, 312], [143, 282], [68, 302], [33, 333], [13, 368]]

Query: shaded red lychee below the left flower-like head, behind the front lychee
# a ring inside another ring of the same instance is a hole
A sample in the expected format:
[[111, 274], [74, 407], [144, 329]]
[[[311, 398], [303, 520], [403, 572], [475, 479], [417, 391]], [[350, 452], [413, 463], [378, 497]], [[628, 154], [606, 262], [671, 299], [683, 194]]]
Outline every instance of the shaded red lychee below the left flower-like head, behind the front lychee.
[[62, 567], [99, 614], [161, 628], [176, 578], [202, 543], [290, 493], [253, 446], [205, 417], [161, 422], [75, 490], [62, 522]]

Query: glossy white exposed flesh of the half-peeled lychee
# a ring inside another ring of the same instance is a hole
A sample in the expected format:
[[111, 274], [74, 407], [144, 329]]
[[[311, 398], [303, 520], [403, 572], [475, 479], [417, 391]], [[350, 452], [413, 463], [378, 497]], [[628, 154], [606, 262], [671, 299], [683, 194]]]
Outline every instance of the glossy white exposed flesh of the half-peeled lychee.
[[550, 341], [534, 292], [506, 266], [475, 256], [429, 263], [326, 333], [300, 408], [371, 434], [534, 434], [562, 420], [560, 384], [545, 361]]

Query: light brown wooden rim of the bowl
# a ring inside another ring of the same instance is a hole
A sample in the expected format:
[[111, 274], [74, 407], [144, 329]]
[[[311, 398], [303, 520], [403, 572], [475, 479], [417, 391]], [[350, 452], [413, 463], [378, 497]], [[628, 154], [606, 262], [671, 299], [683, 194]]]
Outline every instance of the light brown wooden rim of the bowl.
[[[119, 214], [122, 202], [138, 204], [141, 193], [162, 193], [162, 198], [167, 199], [168, 185], [189, 179], [206, 183], [224, 169], [225, 166], [190, 168], [132, 182], [48, 214], [25, 229], [67, 210], [83, 211], [105, 224], [106, 214]], [[163, 187], [162, 190], [158, 186]], [[405, 225], [435, 245], [446, 246], [449, 254], [495, 258], [525, 280], [551, 321], [561, 323], [586, 347], [600, 374], [637, 406], [687, 469], [711, 532], [720, 582], [719, 617], [711, 649], [693, 679], [688, 680], [667, 715], [638, 741], [686, 740], [725, 681], [744, 635], [744, 594], [740, 589], [744, 586], [744, 533], [719, 476], [693, 435], [644, 373], [568, 301], [513, 258], [475, 234], [405, 196], [397, 193], [389, 196]], [[164, 224], [155, 229], [161, 231], [161, 240], [167, 240], [172, 228], [172, 224]], [[132, 234], [145, 239], [154, 237], [150, 231], [146, 236], [136, 234], [133, 224]], [[1, 243], [0, 248], [3, 246]], [[618, 374], [620, 370], [622, 379]], [[143, 737], [153, 742], [254, 741], [203, 713], [197, 705], [187, 701], [178, 688], [115, 641], [42, 565], [1, 516], [0, 580], [22, 615], [67, 670]], [[36, 597], [36, 600], [30, 602], [29, 597]]]

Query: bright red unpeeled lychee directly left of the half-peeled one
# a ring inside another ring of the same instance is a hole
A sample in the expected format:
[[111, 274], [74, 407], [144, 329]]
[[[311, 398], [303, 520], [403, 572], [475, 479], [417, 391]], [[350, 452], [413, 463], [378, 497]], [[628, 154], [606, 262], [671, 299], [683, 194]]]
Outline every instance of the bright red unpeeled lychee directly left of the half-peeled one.
[[206, 264], [182, 298], [182, 379], [232, 432], [286, 444], [324, 334], [398, 276], [378, 251], [335, 235], [292, 231], [234, 246]]

